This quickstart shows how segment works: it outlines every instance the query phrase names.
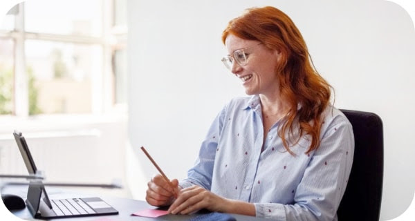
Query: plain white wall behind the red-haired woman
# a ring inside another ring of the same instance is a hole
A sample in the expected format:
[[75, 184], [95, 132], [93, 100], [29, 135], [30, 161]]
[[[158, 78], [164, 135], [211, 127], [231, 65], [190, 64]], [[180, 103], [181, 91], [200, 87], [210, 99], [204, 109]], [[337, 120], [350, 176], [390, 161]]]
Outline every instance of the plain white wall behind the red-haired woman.
[[156, 173], [140, 146], [167, 176], [183, 179], [216, 113], [243, 95], [240, 81], [221, 64], [221, 32], [244, 8], [266, 5], [282, 9], [302, 31], [317, 70], [335, 88], [335, 106], [382, 117], [380, 219], [400, 215], [415, 186], [415, 32], [403, 8], [380, 0], [129, 1], [133, 195], [142, 199]]

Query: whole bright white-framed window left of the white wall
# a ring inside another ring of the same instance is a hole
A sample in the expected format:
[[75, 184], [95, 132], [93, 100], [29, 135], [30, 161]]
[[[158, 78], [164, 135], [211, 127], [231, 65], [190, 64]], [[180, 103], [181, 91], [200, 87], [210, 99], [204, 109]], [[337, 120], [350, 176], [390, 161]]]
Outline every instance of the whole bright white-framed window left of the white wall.
[[127, 0], [37, 0], [0, 27], [0, 115], [100, 114], [127, 102]]

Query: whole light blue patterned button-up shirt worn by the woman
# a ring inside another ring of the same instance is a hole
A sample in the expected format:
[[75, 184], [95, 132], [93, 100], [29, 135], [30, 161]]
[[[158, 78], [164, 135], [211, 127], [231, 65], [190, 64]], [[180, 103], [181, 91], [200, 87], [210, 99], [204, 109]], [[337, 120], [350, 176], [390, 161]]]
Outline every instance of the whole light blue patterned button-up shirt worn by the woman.
[[350, 122], [329, 106], [317, 150], [305, 154], [308, 136], [291, 146], [264, 127], [258, 95], [232, 99], [217, 115], [182, 187], [202, 186], [224, 198], [255, 204], [257, 217], [273, 220], [337, 220], [353, 162]]

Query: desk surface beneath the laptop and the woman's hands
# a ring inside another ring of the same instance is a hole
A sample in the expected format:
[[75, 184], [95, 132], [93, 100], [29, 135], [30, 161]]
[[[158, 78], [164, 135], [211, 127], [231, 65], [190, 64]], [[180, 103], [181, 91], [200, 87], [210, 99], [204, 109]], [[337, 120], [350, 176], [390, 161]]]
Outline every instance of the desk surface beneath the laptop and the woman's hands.
[[[27, 187], [26, 187], [27, 188]], [[17, 192], [16, 192], [17, 191]], [[49, 198], [51, 199], [62, 199], [62, 198], [72, 198], [72, 197], [88, 197], [91, 195], [74, 195], [73, 193], [63, 193], [62, 189], [56, 190], [47, 188], [46, 191], [48, 191]], [[13, 193], [16, 195], [25, 196], [26, 189], [19, 186], [18, 189], [13, 187], [12, 189], [3, 189], [2, 193]], [[97, 195], [93, 195], [97, 196]], [[80, 218], [59, 218], [59, 219], [51, 219], [51, 220], [65, 220], [65, 221], [94, 221], [94, 220], [100, 220], [100, 218], [107, 218], [109, 220], [118, 220], [118, 221], [127, 221], [127, 220], [190, 220], [190, 218], [194, 218], [197, 214], [193, 215], [163, 215], [158, 218], [145, 218], [140, 216], [133, 216], [132, 213], [135, 213], [137, 211], [143, 210], [143, 209], [154, 209], [156, 207], [151, 206], [147, 204], [147, 202], [140, 201], [140, 200], [131, 200], [127, 198], [116, 198], [116, 197], [109, 197], [109, 196], [101, 196], [98, 195], [98, 197], [102, 198], [105, 202], [113, 206], [113, 208], [117, 209], [119, 214], [118, 215], [100, 215], [100, 216], [86, 216], [86, 217], [80, 217]], [[26, 198], [24, 198], [26, 199]], [[12, 211], [14, 215], [17, 217], [24, 219], [24, 220], [36, 220], [33, 218], [33, 216], [28, 211], [27, 207], [26, 209]], [[266, 220], [262, 218], [255, 218], [252, 216], [247, 215], [237, 215], [237, 214], [231, 214], [236, 218], [238, 221], [254, 221], [254, 220]]]

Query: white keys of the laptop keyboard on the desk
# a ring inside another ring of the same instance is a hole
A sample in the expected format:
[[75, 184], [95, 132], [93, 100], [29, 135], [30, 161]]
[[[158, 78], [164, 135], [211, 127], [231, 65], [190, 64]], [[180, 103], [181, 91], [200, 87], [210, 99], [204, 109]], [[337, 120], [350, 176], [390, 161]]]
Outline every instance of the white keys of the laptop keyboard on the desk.
[[51, 200], [51, 202], [53, 211], [59, 216], [96, 213], [79, 198]]

